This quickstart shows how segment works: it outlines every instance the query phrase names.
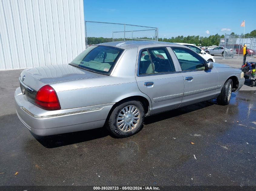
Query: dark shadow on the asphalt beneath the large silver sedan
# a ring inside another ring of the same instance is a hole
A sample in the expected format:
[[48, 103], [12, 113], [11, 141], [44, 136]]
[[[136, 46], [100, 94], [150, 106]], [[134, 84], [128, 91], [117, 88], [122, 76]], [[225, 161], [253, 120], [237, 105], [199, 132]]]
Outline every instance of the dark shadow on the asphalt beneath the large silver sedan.
[[[200, 110], [205, 107], [209, 107], [211, 105], [216, 104], [215, 100], [208, 100], [201, 103], [196, 103], [191, 106], [171, 110], [168, 112], [159, 113], [156, 115], [152, 115], [150, 117], [146, 117], [144, 121], [144, 125], [148, 125], [151, 123], [159, 122], [165, 119], [169, 119], [175, 116], [183, 115], [185, 113], [189, 113], [192, 111]], [[144, 126], [143, 125], [143, 126]], [[143, 126], [139, 131], [143, 129]], [[105, 127], [97, 128], [97, 129], [91, 129], [91, 130], [85, 130], [85, 131], [79, 131], [79, 132], [71, 132], [71, 133], [64, 133], [59, 135], [50, 135], [50, 136], [37, 136], [32, 134], [35, 139], [43, 145], [45, 148], [56, 148], [56, 147], [62, 147], [66, 145], [72, 145], [80, 142], [86, 142], [91, 141], [98, 138], [103, 138], [107, 136], [111, 136], [113, 138], [116, 138], [112, 136]]]

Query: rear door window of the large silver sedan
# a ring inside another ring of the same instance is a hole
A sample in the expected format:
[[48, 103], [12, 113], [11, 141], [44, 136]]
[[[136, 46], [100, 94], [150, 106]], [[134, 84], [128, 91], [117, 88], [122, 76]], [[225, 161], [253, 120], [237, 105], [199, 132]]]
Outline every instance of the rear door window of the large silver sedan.
[[174, 64], [166, 48], [145, 49], [140, 56], [140, 75], [175, 72]]

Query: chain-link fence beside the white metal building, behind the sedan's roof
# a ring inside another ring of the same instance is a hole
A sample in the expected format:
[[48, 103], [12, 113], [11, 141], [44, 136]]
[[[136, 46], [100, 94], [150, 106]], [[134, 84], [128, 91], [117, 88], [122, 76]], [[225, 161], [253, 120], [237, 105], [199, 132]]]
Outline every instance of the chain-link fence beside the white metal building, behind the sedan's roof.
[[158, 40], [157, 27], [85, 21], [86, 47], [125, 40]]

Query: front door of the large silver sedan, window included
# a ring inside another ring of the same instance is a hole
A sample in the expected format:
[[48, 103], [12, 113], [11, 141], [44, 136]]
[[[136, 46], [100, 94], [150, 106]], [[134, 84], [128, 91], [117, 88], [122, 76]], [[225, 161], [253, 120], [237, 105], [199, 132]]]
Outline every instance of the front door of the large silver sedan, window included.
[[[171, 49], [177, 56], [184, 78], [184, 97], [180, 107], [213, 98], [218, 88], [217, 70], [206, 69], [206, 61], [188, 48], [171, 47]], [[183, 59], [176, 53], [181, 51], [190, 54], [193, 59]]]

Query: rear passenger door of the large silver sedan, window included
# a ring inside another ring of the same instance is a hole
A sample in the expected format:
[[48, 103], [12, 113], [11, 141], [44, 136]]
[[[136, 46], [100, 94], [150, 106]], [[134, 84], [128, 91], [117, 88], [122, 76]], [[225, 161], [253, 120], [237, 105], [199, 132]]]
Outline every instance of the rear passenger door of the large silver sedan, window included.
[[178, 62], [172, 61], [166, 47], [139, 50], [135, 78], [140, 91], [151, 99], [150, 114], [180, 106], [184, 94], [184, 78], [178, 70]]

